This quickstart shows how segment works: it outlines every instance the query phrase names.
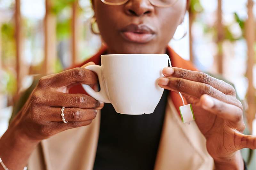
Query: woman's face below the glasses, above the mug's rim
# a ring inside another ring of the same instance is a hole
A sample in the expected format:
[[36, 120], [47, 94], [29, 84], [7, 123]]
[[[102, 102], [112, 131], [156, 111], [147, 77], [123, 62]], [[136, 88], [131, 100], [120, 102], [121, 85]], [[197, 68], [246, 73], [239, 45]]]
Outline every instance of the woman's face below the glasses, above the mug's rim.
[[148, 0], [129, 0], [119, 6], [93, 0], [93, 9], [109, 53], [165, 53], [182, 22], [187, 0], [156, 7]]

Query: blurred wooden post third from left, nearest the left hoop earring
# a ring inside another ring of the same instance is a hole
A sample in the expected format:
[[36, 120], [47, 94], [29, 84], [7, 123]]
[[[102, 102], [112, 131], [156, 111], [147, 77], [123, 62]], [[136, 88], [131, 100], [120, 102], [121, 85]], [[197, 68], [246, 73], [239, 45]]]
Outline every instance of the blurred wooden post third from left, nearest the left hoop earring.
[[75, 65], [78, 61], [78, 37], [79, 37], [79, 24], [78, 24], [78, 16], [79, 16], [79, 4], [78, 0], [75, 0], [72, 4], [72, 25], [71, 25], [71, 51], [72, 51], [72, 65]]

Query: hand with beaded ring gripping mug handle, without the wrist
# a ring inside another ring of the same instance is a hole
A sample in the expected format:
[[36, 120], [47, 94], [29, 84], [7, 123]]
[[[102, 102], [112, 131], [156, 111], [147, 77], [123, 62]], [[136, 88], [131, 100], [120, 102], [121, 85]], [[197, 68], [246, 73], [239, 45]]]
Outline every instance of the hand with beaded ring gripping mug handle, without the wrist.
[[[85, 94], [68, 94], [77, 83], [95, 85], [97, 75], [84, 68], [74, 68], [42, 77], [14, 122], [29, 139], [42, 140], [61, 131], [89, 125], [104, 105]], [[61, 108], [68, 123], [63, 123]]]

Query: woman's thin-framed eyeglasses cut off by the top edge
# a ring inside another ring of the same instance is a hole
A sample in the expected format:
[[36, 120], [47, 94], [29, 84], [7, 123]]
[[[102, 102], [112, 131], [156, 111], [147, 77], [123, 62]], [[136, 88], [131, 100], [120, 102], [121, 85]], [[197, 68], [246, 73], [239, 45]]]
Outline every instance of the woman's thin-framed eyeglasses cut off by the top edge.
[[[108, 5], [123, 5], [129, 0], [101, 0], [104, 4]], [[149, 0], [149, 2], [157, 7], [171, 7], [176, 4], [178, 0]]]

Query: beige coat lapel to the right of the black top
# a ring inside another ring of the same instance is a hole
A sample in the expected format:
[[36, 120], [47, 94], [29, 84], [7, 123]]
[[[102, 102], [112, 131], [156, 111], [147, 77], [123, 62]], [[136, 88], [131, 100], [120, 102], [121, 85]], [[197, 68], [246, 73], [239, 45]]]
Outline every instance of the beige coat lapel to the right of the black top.
[[182, 123], [173, 101], [166, 105], [155, 170], [212, 170], [213, 159], [196, 122]]

